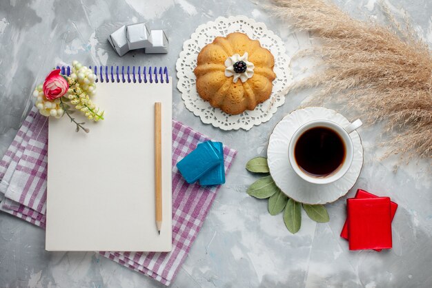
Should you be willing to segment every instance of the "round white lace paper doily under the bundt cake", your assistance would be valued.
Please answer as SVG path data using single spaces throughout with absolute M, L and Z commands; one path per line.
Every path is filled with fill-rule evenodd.
M 195 88 L 195 74 L 193 70 L 197 65 L 197 56 L 205 45 L 212 43 L 217 36 L 226 36 L 232 32 L 243 32 L 249 38 L 259 40 L 262 47 L 267 48 L 275 57 L 273 91 L 270 99 L 255 107 L 255 110 L 246 110 L 242 114 L 229 115 L 214 108 L 210 103 L 199 97 Z M 181 98 L 190 112 L 199 116 L 201 121 L 219 127 L 222 130 L 250 130 L 253 125 L 259 125 L 271 119 L 277 107 L 285 103 L 285 94 L 293 77 L 288 67 L 290 58 L 285 54 L 282 39 L 266 28 L 264 23 L 255 22 L 245 16 L 218 17 L 215 21 L 199 25 L 195 33 L 183 44 L 176 63 L 177 88 Z

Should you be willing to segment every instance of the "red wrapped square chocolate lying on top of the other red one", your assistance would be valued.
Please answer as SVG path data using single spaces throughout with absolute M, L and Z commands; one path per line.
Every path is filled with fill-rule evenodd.
M 389 197 L 346 200 L 350 250 L 391 249 L 390 202 Z

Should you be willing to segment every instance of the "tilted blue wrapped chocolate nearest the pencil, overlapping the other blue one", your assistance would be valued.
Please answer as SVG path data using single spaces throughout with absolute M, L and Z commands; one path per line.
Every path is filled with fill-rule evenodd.
M 221 156 L 210 141 L 207 141 L 199 144 L 193 152 L 181 159 L 177 163 L 177 168 L 187 183 L 195 183 L 223 161 L 224 156 Z

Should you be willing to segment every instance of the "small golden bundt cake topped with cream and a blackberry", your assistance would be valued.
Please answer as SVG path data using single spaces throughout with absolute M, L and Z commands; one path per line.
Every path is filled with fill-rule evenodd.
M 216 37 L 198 54 L 197 92 L 228 114 L 254 110 L 270 97 L 274 65 L 271 52 L 246 34 Z

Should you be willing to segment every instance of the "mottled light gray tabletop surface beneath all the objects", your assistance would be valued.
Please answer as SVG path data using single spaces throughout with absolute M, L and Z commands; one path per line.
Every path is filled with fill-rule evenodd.
M 375 0 L 337 1 L 355 17 L 383 19 Z M 432 3 L 393 0 L 397 15 L 411 15 L 414 27 L 432 44 Z M 175 74 L 182 43 L 197 25 L 218 16 L 244 14 L 264 21 L 293 54 L 308 46 L 250 1 L 0 1 L 0 155 L 10 145 L 30 94 L 59 61 L 88 65 L 167 65 Z M 170 40 L 165 55 L 130 52 L 117 56 L 106 37 L 120 25 L 146 21 L 164 28 Z M 295 70 L 300 64 L 295 64 Z M 296 74 L 294 76 L 297 76 Z M 255 176 L 244 165 L 265 154 L 268 135 L 306 96 L 290 94 L 268 123 L 249 132 L 222 132 L 188 112 L 174 90 L 174 118 L 239 151 L 173 287 L 431 287 L 431 163 L 410 163 L 393 172 L 395 161 L 378 160 L 380 127 L 364 127 L 365 165 L 355 187 L 389 195 L 399 204 L 391 251 L 348 251 L 340 229 L 345 198 L 327 205 L 331 221 L 315 224 L 303 214 L 302 229 L 291 235 L 282 216 L 270 216 L 266 201 L 245 191 Z M 136 110 L 137 107 L 125 107 Z M 344 113 L 343 109 L 339 110 Z M 355 119 L 361 115 L 348 115 Z M 79 207 L 77 207 L 79 209 Z M 48 253 L 45 234 L 29 223 L 0 213 L 0 287 L 161 287 L 155 280 L 94 253 Z

